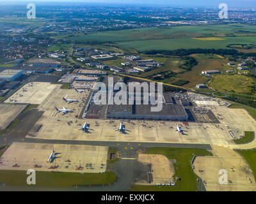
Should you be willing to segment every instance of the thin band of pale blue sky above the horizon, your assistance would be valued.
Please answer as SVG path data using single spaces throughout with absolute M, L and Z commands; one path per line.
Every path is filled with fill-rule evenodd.
M 20 2 L 24 0 L 0 0 L 0 2 Z M 230 7 L 236 8 L 256 8 L 256 0 L 27 0 L 33 3 L 41 2 L 84 2 L 84 3 L 132 3 L 132 4 L 166 4 L 173 6 L 216 6 L 220 3 L 226 3 Z

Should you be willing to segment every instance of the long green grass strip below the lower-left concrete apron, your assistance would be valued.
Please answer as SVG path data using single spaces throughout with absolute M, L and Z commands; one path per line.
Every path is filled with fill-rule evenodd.
M 28 186 L 26 171 L 0 170 L 0 183 L 8 186 Z M 79 185 L 111 184 L 116 175 L 106 173 L 54 173 L 36 171 L 36 185 L 40 187 L 72 187 Z

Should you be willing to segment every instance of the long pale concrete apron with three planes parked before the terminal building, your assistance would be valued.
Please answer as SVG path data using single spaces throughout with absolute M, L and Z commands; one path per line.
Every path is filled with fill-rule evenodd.
M 45 113 L 45 117 L 38 120 L 37 124 L 42 128 L 33 137 L 57 140 L 90 140 L 90 141 L 114 141 L 114 142 L 152 142 L 152 143 L 207 143 L 214 145 L 233 145 L 233 138 L 228 131 L 239 129 L 243 131 L 255 131 L 256 124 L 245 110 L 236 110 L 227 107 L 212 109 L 223 117 L 219 117 L 220 124 L 188 122 L 188 126 L 182 122 L 154 121 L 154 120 L 127 120 L 123 121 L 130 131 L 122 134 L 115 131 L 120 120 L 93 120 L 77 119 L 74 113 L 54 116 L 54 107 L 51 114 Z M 67 107 L 68 108 L 68 107 Z M 90 124 L 93 131 L 84 133 L 77 130 L 84 122 Z M 179 125 L 186 129 L 185 135 L 181 135 L 173 128 Z

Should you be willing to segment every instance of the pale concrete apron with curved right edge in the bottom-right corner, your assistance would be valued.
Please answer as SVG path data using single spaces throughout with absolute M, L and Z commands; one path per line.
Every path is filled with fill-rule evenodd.
M 196 157 L 195 173 L 207 191 L 256 191 L 252 169 L 244 158 L 232 149 L 213 148 L 214 156 Z M 227 170 L 227 184 L 221 184 L 220 170 Z

